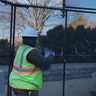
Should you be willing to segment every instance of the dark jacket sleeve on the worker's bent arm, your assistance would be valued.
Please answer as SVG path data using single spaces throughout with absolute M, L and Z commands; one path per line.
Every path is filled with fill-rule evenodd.
M 54 59 L 53 55 L 49 55 L 45 58 L 37 49 L 33 49 L 27 55 L 28 62 L 40 67 L 43 71 L 49 69 Z

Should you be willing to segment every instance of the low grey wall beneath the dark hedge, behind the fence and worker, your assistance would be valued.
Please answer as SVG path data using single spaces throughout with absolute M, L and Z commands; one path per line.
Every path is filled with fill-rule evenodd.
M 8 78 L 8 66 L 0 66 L 0 70 L 4 71 L 5 80 Z M 96 70 L 96 63 L 67 63 L 65 78 L 79 79 L 90 78 L 91 74 Z M 56 81 L 63 79 L 63 64 L 51 64 L 49 70 L 43 72 L 44 81 Z

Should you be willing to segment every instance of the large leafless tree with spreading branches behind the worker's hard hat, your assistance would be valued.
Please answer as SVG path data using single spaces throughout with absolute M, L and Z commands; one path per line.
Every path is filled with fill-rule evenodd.
M 51 6 L 51 7 L 62 7 L 63 0 L 7 0 L 14 3 L 22 3 L 37 6 Z M 24 2 L 25 1 L 25 2 Z M 66 0 L 66 5 L 71 3 L 70 0 Z M 10 20 L 10 6 L 7 8 L 4 4 L 0 4 L 0 14 L 2 18 L 0 21 L 9 23 Z M 3 10 L 2 10 L 3 9 Z M 17 36 L 26 25 L 34 27 L 37 33 L 42 34 L 44 27 L 56 26 L 58 22 L 62 21 L 61 11 L 40 9 L 40 8 L 17 8 L 16 12 L 16 32 Z M 4 14 L 4 16 L 3 16 Z M 60 24 L 60 23 L 59 23 Z M 9 24 L 7 24 L 9 27 Z

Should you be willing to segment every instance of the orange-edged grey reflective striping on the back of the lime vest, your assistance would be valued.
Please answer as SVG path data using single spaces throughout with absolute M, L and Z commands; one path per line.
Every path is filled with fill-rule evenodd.
M 23 53 L 25 52 L 25 50 L 27 50 L 29 47 L 27 46 L 21 55 L 21 59 L 20 59 L 20 65 L 18 66 L 17 64 L 14 64 L 13 66 L 13 71 L 17 72 L 17 73 L 21 73 L 21 74 L 31 74 L 31 73 L 35 73 L 35 72 L 40 72 L 40 68 L 36 67 L 36 66 L 31 66 L 31 67 L 23 67 Z

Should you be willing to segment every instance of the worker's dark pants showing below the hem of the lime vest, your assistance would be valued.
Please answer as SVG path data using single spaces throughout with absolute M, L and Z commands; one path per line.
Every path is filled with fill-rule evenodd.
M 38 91 L 13 89 L 16 96 L 39 96 Z

